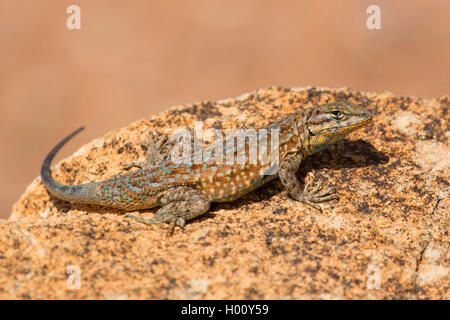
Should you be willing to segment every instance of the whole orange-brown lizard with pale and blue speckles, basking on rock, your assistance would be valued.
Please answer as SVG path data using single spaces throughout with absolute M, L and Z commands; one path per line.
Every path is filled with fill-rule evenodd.
M 84 129 L 81 127 L 50 151 L 41 167 L 41 179 L 47 191 L 58 199 L 119 208 L 128 212 L 127 217 L 148 225 L 169 223 L 167 235 L 175 226 L 184 227 L 186 221 L 206 213 L 211 202 L 233 201 L 277 177 L 294 200 L 321 210 L 319 203 L 338 199 L 335 187 L 319 180 L 314 186 L 306 183 L 302 188 L 296 176 L 301 162 L 335 145 L 371 120 L 369 111 L 351 101 L 343 101 L 303 108 L 264 126 L 268 130 L 279 130 L 279 162 L 277 170 L 269 173 L 267 166 L 259 163 L 171 163 L 168 153 L 162 151 L 167 148 L 167 137 L 155 143 L 150 134 L 149 141 L 142 144 L 147 148 L 146 161 L 122 164 L 126 169 L 138 167 L 140 170 L 99 182 L 60 184 L 51 176 L 51 162 L 56 153 Z M 248 141 L 245 143 L 249 151 Z M 150 219 L 130 213 L 154 207 L 160 208 Z

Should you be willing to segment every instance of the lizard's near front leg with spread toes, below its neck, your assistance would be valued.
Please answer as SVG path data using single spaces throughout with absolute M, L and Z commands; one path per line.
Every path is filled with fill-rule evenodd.
M 278 176 L 291 197 L 321 210 L 317 203 L 337 199 L 338 195 L 332 185 L 328 184 L 324 188 L 321 181 L 318 181 L 312 190 L 308 190 L 310 186 L 309 183 L 307 183 L 302 190 L 296 176 L 301 161 L 302 159 L 300 157 L 294 155 L 287 156 L 280 163 Z

